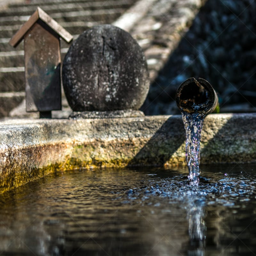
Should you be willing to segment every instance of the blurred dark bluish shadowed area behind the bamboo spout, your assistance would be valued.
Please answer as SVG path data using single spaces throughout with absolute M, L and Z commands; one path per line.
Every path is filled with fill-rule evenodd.
M 252 0 L 206 1 L 152 82 L 145 114 L 178 114 L 176 90 L 189 77 L 212 84 L 221 112 L 255 111 L 255 12 Z

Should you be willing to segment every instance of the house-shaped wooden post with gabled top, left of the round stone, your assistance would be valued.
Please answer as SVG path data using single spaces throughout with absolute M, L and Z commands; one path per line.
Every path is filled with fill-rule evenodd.
M 60 37 L 68 43 L 73 39 L 37 7 L 9 42 L 16 47 L 24 39 L 26 111 L 39 111 L 41 118 L 61 109 Z

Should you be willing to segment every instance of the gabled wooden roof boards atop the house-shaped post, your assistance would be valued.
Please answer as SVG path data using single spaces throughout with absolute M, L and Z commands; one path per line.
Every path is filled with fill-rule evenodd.
M 26 35 L 28 30 L 37 22 L 37 20 L 42 20 L 47 26 L 52 28 L 61 38 L 63 38 L 67 43 L 69 43 L 73 36 L 68 33 L 66 29 L 60 26 L 58 22 L 53 20 L 46 12 L 44 12 L 40 7 L 37 7 L 36 12 L 34 12 L 28 21 L 26 21 L 23 26 L 12 36 L 9 44 L 16 47 Z

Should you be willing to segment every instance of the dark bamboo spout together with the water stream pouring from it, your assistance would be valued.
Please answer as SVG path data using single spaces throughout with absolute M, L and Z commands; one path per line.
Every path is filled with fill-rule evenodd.
M 183 82 L 176 93 L 176 103 L 186 130 L 186 162 L 190 185 L 199 183 L 200 140 L 204 117 L 219 112 L 217 93 L 206 80 L 194 77 Z

